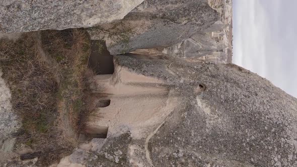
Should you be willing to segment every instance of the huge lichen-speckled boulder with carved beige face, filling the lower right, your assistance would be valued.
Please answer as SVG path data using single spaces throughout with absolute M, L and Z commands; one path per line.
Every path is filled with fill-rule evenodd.
M 273 86 L 268 80 L 233 64 L 191 61 L 152 52 L 145 55 L 144 51 L 142 54 L 115 56 L 114 63 L 116 68 L 122 69 L 122 73 L 115 72 L 109 81 L 102 82 L 104 79 L 101 78 L 103 84 L 97 87 L 97 90 L 106 90 L 104 98 L 109 98 L 111 103 L 91 114 L 92 118 L 98 116 L 95 119 L 97 125 L 110 126 L 111 133 L 106 139 L 93 139 L 90 142 L 92 148 L 84 153 L 89 158 L 85 158 L 87 160 L 83 160 L 82 164 L 297 165 L 297 99 Z M 121 80 L 118 75 L 133 75 L 136 79 L 127 82 L 125 77 Z M 137 78 L 150 79 L 143 83 L 137 81 Z M 124 97 L 116 93 L 116 90 L 109 89 L 132 85 L 135 90 Z M 142 90 L 138 87 L 142 87 Z M 152 88 L 157 88 L 156 92 L 145 91 Z M 111 90 L 110 94 L 108 90 Z M 94 91 L 96 93 L 96 89 Z M 164 93 L 166 96 L 158 102 L 147 98 L 158 98 Z M 112 122 L 120 120 L 124 114 L 137 114 L 133 113 L 133 107 L 126 108 L 123 103 L 118 103 L 119 99 L 138 106 L 139 113 L 145 111 L 147 115 L 154 115 L 162 110 L 166 114 L 164 117 L 158 116 L 161 120 L 151 124 L 145 120 L 137 126 L 129 122 L 113 124 L 105 119 Z M 166 110 L 170 99 L 176 99 L 175 105 Z M 147 100 L 159 110 L 145 110 L 147 104 L 143 102 Z M 105 112 L 108 108 L 116 107 L 120 110 L 109 110 L 108 114 Z M 133 120 L 137 122 L 137 116 Z M 90 119 L 89 127 L 95 124 L 96 121 Z M 135 130 L 143 131 L 136 133 Z

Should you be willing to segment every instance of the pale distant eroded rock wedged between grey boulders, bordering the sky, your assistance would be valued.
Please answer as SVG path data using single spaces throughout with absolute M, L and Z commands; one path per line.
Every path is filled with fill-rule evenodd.
M 215 63 L 232 62 L 232 1 L 208 0 L 208 4 L 219 13 L 219 21 L 200 34 L 164 48 L 163 53 Z

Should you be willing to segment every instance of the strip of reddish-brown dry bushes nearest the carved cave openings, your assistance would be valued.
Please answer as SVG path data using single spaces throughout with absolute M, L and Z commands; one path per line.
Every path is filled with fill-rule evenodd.
M 43 47 L 58 63 L 58 106 L 61 113 L 66 113 L 60 117 L 61 127 L 67 129 L 65 135 L 76 136 L 73 133 L 80 131 L 83 113 L 89 110 L 87 78 L 94 74 L 88 68 L 89 35 L 80 29 L 50 30 L 42 33 L 42 38 Z

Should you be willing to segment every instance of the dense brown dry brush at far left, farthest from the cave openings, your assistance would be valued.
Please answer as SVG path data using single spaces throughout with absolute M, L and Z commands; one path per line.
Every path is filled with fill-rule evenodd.
M 14 42 L 0 42 L 4 78 L 12 91 L 12 104 L 22 115 L 24 130 L 44 133 L 55 119 L 57 82 L 52 69 L 39 57 L 33 33 Z

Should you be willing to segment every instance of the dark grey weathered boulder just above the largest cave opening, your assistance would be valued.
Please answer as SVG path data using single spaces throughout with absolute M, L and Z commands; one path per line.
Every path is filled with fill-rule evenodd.
M 216 29 L 217 21 L 219 14 L 204 0 L 145 0 L 124 19 L 88 32 L 92 39 L 106 40 L 108 50 L 116 55 L 177 44 L 194 34 Z

